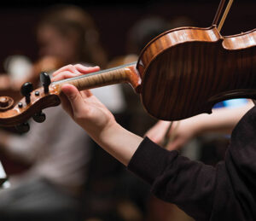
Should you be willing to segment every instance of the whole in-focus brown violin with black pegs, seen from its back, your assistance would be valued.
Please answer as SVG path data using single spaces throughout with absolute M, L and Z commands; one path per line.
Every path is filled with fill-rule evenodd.
M 215 24 L 220 8 L 210 27 L 180 27 L 160 34 L 137 62 L 52 83 L 41 73 L 43 87 L 33 90 L 32 84 L 24 84 L 24 97 L 15 106 L 10 97 L 0 98 L 0 125 L 19 125 L 32 116 L 44 121 L 42 109 L 60 104 L 61 84 L 66 83 L 79 90 L 131 84 L 146 111 L 164 120 L 211 113 L 216 102 L 227 99 L 256 99 L 256 29 L 223 37 Z

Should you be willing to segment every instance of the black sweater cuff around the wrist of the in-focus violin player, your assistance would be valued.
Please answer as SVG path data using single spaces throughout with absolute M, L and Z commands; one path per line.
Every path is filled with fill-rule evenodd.
M 166 164 L 172 163 L 176 157 L 176 150 L 168 151 L 145 137 L 131 157 L 127 168 L 152 184 L 154 179 L 165 170 Z

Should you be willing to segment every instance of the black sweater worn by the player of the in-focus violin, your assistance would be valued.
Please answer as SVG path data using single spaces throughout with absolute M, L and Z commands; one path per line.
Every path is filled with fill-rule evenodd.
M 195 220 L 256 220 L 256 108 L 232 132 L 225 159 L 216 167 L 160 148 L 147 137 L 128 165 L 164 201 Z

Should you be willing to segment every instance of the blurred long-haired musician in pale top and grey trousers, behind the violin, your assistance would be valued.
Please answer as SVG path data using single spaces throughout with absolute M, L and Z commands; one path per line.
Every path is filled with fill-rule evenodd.
M 78 7 L 55 6 L 46 11 L 38 23 L 37 36 L 43 59 L 103 67 L 107 61 L 93 20 Z M 44 65 L 40 65 L 37 70 L 41 72 Z M 123 105 L 118 90 L 113 86 L 95 93 L 118 112 Z M 48 108 L 45 113 L 45 122 L 32 121 L 26 135 L 0 131 L 2 153 L 31 165 L 27 172 L 10 177 L 11 188 L 0 192 L 1 220 L 79 219 L 91 158 L 90 137 L 60 107 Z

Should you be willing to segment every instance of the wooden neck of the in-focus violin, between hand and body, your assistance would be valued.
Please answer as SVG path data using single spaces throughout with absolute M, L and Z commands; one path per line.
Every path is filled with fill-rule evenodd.
M 100 72 L 81 75 L 76 78 L 56 81 L 53 84 L 59 86 L 61 86 L 61 84 L 73 84 L 79 90 L 88 90 L 111 84 L 128 83 L 138 92 L 141 79 L 137 73 L 136 64 L 136 62 L 133 62 Z

